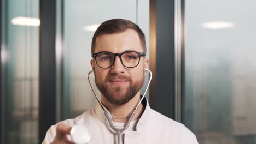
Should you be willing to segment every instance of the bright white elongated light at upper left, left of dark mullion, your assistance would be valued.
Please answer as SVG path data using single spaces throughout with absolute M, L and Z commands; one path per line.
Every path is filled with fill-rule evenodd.
M 11 20 L 11 23 L 18 26 L 40 26 L 40 20 L 32 17 L 15 17 Z

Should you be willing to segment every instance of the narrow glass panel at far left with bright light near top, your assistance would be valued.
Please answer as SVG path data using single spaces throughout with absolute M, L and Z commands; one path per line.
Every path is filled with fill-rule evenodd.
M 1 61 L 6 62 L 6 73 L 2 79 L 5 92 L 1 96 L 6 101 L 3 121 L 6 137 L 1 139 L 4 143 L 38 143 L 39 1 L 5 3 L 8 7 L 2 6 L 7 9 L 7 17 L 2 31 L 5 29 L 7 35 L 1 35 L 5 39 L 1 47 L 5 59 Z

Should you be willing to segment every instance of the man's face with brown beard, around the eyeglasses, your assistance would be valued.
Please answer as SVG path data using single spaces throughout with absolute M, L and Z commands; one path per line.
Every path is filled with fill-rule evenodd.
M 108 51 L 122 53 L 125 51 L 144 52 L 136 31 L 127 29 L 117 34 L 103 34 L 96 39 L 94 53 Z M 148 59 L 141 57 L 135 68 L 126 68 L 119 57 L 115 57 L 112 67 L 103 69 L 97 66 L 95 59 L 91 61 L 95 73 L 97 88 L 112 104 L 123 105 L 130 101 L 143 86 L 144 68 Z

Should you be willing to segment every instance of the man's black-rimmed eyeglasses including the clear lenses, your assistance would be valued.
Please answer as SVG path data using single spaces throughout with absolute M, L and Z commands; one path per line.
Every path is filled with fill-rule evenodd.
M 125 51 L 123 53 L 112 53 L 102 51 L 91 55 L 95 58 L 98 67 L 107 69 L 112 67 L 115 63 L 115 57 L 119 57 L 121 63 L 126 68 L 134 68 L 139 64 L 141 57 L 146 56 L 146 53 L 136 51 Z

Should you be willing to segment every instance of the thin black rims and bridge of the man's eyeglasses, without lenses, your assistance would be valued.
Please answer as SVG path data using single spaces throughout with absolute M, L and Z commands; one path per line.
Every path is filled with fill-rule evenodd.
M 112 63 L 109 67 L 107 67 L 107 68 L 100 67 L 100 65 L 98 65 L 98 63 L 97 63 L 97 58 L 96 58 L 97 55 L 100 54 L 100 53 L 103 53 L 103 52 L 111 53 L 112 55 L 114 55 L 114 61 L 113 61 L 113 63 Z M 137 52 L 137 51 L 124 51 L 124 52 L 122 52 L 122 53 L 112 53 L 112 52 L 109 52 L 109 51 L 101 51 L 101 52 L 94 53 L 94 54 L 92 54 L 91 56 L 92 56 L 92 58 L 95 58 L 95 61 L 96 61 L 96 64 L 98 65 L 98 67 L 100 67 L 100 68 L 102 68 L 102 69 L 108 69 L 108 68 L 110 68 L 110 67 L 112 67 L 112 66 L 114 65 L 114 63 L 115 63 L 115 57 L 117 57 L 117 56 L 119 57 L 121 63 L 124 65 L 121 56 L 122 56 L 125 52 L 136 52 L 136 53 L 138 53 L 138 56 L 139 56 L 138 64 L 139 64 L 139 62 L 141 61 L 141 57 L 146 56 L 146 53 L 144 53 L 144 52 Z M 124 65 L 124 67 L 126 67 L 126 68 L 135 68 L 135 67 L 138 66 L 138 64 L 135 65 L 134 67 L 126 67 L 125 65 Z

